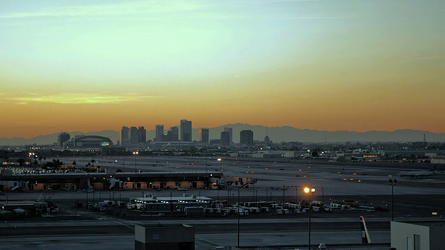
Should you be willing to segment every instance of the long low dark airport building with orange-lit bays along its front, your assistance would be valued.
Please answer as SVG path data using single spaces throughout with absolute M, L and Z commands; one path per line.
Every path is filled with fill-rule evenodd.
M 109 190 L 156 188 L 210 188 L 213 181 L 220 181 L 220 172 L 69 172 L 47 174 L 12 174 L 3 169 L 0 190 L 13 189 L 6 183 L 22 184 L 29 190 Z M 107 169 L 108 170 L 108 169 Z M 2 185 L 3 183 L 3 185 Z M 27 183 L 26 185 L 23 185 Z M 15 184 L 17 185 L 17 184 Z

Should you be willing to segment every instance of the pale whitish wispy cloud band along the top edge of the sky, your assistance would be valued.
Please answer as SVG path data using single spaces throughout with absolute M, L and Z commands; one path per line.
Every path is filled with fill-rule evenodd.
M 264 15 L 250 12 L 252 6 L 275 3 L 298 3 L 326 0 L 254 0 L 230 1 L 229 3 L 212 1 L 124 1 L 122 3 L 104 3 L 85 6 L 51 6 L 28 12 L 0 14 L 0 19 L 23 19 L 39 17 L 112 17 L 117 19 L 168 19 L 168 14 L 175 14 L 179 19 L 351 19 L 350 15 L 335 17 L 324 15 Z M 241 10 L 241 12 L 234 12 Z M 243 11 L 246 10 L 246 11 Z M 193 13 L 193 15 L 181 15 Z

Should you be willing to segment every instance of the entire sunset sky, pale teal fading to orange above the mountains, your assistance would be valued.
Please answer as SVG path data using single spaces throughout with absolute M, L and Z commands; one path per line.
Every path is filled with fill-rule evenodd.
M 0 0 L 0 138 L 245 123 L 445 133 L 444 0 Z

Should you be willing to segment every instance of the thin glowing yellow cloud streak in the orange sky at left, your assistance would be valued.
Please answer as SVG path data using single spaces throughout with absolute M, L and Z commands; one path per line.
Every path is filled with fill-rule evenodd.
M 145 101 L 147 99 L 158 98 L 147 94 L 55 94 L 38 95 L 30 94 L 29 97 L 13 97 L 9 101 L 17 101 L 17 105 L 26 105 L 29 103 L 60 103 L 60 104 L 104 104 L 104 103 L 125 103 Z

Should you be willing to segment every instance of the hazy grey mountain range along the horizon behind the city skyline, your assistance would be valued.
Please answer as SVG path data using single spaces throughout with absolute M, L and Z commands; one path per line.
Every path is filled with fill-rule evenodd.
M 180 126 L 177 126 L 180 128 Z M 254 140 L 262 141 L 267 135 L 273 142 L 421 142 L 426 135 L 427 142 L 445 142 L 445 133 L 431 133 L 402 129 L 397 131 L 316 131 L 310 129 L 292 128 L 290 126 L 268 127 L 249 124 L 226 124 L 216 128 L 209 128 L 209 137 L 219 139 L 224 128 L 232 128 L 233 141 L 239 142 L 239 133 L 242 130 L 252 130 Z M 165 131 L 166 132 L 166 131 Z M 83 133 L 79 131 L 68 132 L 73 138 L 75 135 L 101 135 L 110 138 L 113 143 L 120 140 L 120 131 L 97 131 Z M 35 138 L 0 138 L 0 145 L 29 145 L 54 144 L 59 133 L 39 135 Z M 147 140 L 153 140 L 155 131 L 147 131 Z M 198 140 L 198 129 L 193 128 L 193 140 Z

